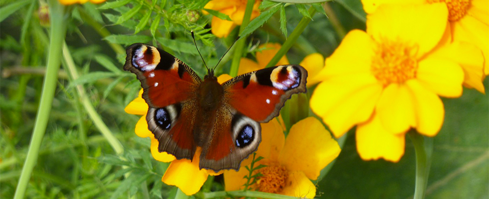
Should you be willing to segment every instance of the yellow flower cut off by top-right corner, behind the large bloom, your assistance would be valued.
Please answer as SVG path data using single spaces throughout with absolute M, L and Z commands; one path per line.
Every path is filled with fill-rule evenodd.
M 363 8 L 367 13 L 373 13 L 382 4 L 424 4 L 445 2 L 448 8 L 449 23 L 447 29 L 450 33 L 447 40 L 450 42 L 467 42 L 477 46 L 484 55 L 484 69 L 473 63 L 461 64 L 465 72 L 464 86 L 475 88 L 485 93 L 482 80 L 489 75 L 489 1 L 488 0 L 362 0 Z M 446 23 L 446 22 L 445 22 Z M 467 45 L 467 44 L 461 44 Z M 471 47 L 474 48 L 474 47 Z M 479 50 L 473 49 L 470 53 L 460 51 L 452 58 L 473 56 L 479 61 Z M 477 63 L 477 62 L 476 62 Z

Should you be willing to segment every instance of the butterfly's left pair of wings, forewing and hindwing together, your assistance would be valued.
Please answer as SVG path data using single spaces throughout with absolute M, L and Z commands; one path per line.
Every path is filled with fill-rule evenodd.
M 126 50 L 124 70 L 136 74 L 149 105 L 148 129 L 158 151 L 192 159 L 196 150 L 193 124 L 196 93 L 202 80 L 185 63 L 151 45 L 136 43 Z

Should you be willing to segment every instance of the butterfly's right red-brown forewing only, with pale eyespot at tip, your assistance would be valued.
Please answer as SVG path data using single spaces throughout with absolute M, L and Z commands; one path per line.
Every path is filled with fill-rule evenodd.
M 299 65 L 266 68 L 223 84 L 225 98 L 238 112 L 258 122 L 276 117 L 292 94 L 306 92 L 307 71 Z

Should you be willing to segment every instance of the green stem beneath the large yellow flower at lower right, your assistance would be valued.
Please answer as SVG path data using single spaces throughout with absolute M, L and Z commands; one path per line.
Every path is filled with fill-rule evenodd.
M 433 154 L 433 138 L 424 137 L 415 131 L 409 132 L 416 151 L 416 186 L 414 199 L 423 199 L 428 184 L 430 173 L 431 156 Z

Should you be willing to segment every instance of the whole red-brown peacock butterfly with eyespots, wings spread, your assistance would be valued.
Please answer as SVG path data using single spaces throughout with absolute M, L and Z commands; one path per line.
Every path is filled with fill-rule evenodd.
M 200 169 L 239 170 L 261 141 L 260 123 L 276 117 L 292 94 L 306 92 L 299 65 L 265 68 L 219 84 L 214 69 L 202 80 L 187 64 L 157 47 L 127 48 L 124 70 L 136 74 L 148 103 L 148 129 L 158 151 L 192 160 Z

